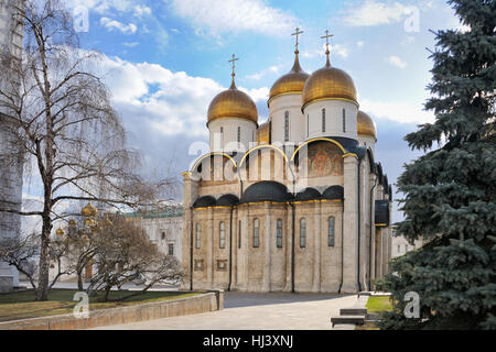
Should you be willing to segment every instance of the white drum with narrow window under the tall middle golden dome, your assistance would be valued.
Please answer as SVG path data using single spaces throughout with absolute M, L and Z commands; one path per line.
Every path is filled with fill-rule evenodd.
M 272 143 L 285 142 L 285 112 L 289 113 L 289 142 L 300 143 L 305 140 L 304 118 L 301 112 L 301 95 L 283 95 L 269 103 L 269 119 L 272 121 Z

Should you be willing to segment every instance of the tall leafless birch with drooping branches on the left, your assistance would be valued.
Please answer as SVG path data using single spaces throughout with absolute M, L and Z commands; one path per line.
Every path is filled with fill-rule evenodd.
M 25 165 L 33 165 L 32 182 L 42 187 L 43 201 L 34 211 L 7 206 L 0 211 L 41 218 L 36 300 L 46 300 L 50 234 L 54 221 L 67 220 L 58 210 L 63 204 L 134 207 L 152 199 L 155 187 L 134 172 L 139 154 L 126 148 L 109 92 L 87 68 L 96 55 L 78 50 L 69 13 L 60 1 L 28 0 L 19 15 L 25 25 L 24 53 L 21 61 L 9 53 L 1 57 L 0 108 L 12 127 L 12 157 L 25 155 Z

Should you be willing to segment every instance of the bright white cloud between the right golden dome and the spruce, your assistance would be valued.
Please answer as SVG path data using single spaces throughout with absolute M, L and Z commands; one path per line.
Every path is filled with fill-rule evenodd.
M 400 123 L 434 122 L 434 116 L 424 111 L 422 103 L 408 103 L 396 101 L 371 101 L 360 99 L 360 110 L 370 113 L 378 119 L 386 119 Z

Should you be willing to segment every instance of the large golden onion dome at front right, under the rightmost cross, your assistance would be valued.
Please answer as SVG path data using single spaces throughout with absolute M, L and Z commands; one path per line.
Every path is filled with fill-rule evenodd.
M 303 108 L 312 101 L 324 99 L 348 100 L 358 106 L 355 82 L 344 70 L 332 67 L 328 59 L 321 69 L 314 72 L 303 88 Z

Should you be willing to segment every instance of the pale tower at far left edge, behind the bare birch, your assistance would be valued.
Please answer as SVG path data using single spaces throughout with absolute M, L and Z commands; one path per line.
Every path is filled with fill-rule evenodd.
M 23 0 L 0 0 L 0 65 L 10 55 L 13 61 L 21 59 L 24 33 L 23 19 L 20 13 L 24 9 Z M 12 89 L 6 81 L 9 67 L 1 67 L 0 87 Z M 2 98 L 0 98 L 2 99 Z M 0 101 L 1 102 L 1 101 Z M 13 143 L 9 118 L 11 111 L 0 103 L 0 208 L 21 210 L 22 208 L 22 155 L 19 145 Z M 0 239 L 18 239 L 21 231 L 20 216 L 0 212 Z M 9 292 L 19 285 L 19 275 L 14 267 L 0 262 L 0 293 Z

